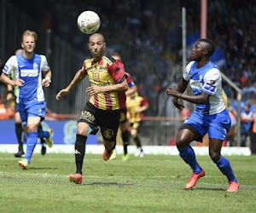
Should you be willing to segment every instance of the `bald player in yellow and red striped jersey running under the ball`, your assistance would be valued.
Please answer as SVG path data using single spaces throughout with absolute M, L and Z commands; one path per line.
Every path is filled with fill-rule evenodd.
M 81 184 L 83 182 L 83 161 L 85 142 L 88 135 L 96 134 L 101 128 L 105 150 L 102 158 L 107 161 L 116 144 L 119 129 L 120 106 L 125 104 L 125 91 L 128 89 L 124 65 L 105 53 L 105 39 L 100 33 L 89 37 L 88 47 L 93 56 L 84 60 L 80 69 L 66 89 L 56 95 L 59 100 L 80 83 L 87 75 L 90 87 L 86 89 L 90 100 L 87 101 L 78 121 L 78 131 L 75 141 L 76 174 L 68 176 L 69 181 Z

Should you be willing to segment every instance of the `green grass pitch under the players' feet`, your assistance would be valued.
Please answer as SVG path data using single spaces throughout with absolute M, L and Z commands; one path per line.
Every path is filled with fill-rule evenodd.
M 208 156 L 198 156 L 206 170 L 194 189 L 184 190 L 192 174 L 179 156 L 102 155 L 84 158 L 84 182 L 73 154 L 36 154 L 22 170 L 13 154 L 0 154 L 0 212 L 255 212 L 256 156 L 228 157 L 240 182 L 238 193 L 225 193 L 228 181 Z

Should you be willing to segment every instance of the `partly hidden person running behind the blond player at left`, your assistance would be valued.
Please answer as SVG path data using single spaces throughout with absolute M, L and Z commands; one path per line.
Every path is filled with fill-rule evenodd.
M 22 54 L 23 49 L 17 49 L 15 51 L 15 55 L 20 55 Z M 14 79 L 14 72 L 12 72 L 9 76 L 9 78 Z M 13 87 L 12 85 L 8 84 L 7 85 L 7 96 L 6 96 L 6 100 L 7 101 L 11 101 L 11 100 L 15 100 L 17 93 L 18 93 L 18 86 Z M 42 125 L 41 123 L 39 124 L 38 128 L 40 128 L 42 130 Z M 18 147 L 18 153 L 15 153 L 15 157 L 16 158 L 20 158 L 20 157 L 25 157 L 25 153 L 23 150 L 23 142 L 26 138 L 26 136 L 24 135 L 24 131 L 21 125 L 21 118 L 20 118 L 20 113 L 17 109 L 17 106 L 15 104 L 15 134 L 19 143 L 19 147 Z M 44 138 L 40 138 L 41 141 L 41 154 L 44 155 L 46 153 L 46 145 L 45 145 L 45 140 Z

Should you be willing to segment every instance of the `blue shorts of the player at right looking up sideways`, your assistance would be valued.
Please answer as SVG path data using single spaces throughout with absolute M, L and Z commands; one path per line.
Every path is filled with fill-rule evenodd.
M 225 109 L 214 115 L 203 114 L 200 112 L 192 112 L 191 116 L 184 121 L 183 124 L 189 124 L 195 128 L 201 135 L 201 141 L 204 135 L 209 135 L 209 138 L 215 138 L 224 141 L 229 134 L 231 120 L 230 114 Z

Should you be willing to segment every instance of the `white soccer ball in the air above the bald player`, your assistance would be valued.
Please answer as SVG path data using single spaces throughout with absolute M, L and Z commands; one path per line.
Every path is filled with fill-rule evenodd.
M 79 14 L 78 26 L 81 32 L 92 34 L 100 28 L 101 20 L 96 12 L 87 10 Z

